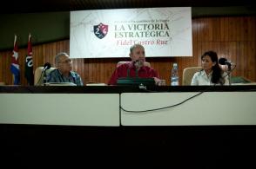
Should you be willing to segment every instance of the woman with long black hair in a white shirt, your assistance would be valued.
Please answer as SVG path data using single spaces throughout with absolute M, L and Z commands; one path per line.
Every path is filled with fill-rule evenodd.
M 191 85 L 229 85 L 228 75 L 219 67 L 216 52 L 205 52 L 201 64 L 202 69 L 193 75 Z

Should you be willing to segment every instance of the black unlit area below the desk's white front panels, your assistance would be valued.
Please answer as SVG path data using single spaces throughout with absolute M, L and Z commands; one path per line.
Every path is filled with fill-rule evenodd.
M 0 131 L 1 161 L 8 166 L 256 166 L 254 126 L 0 125 Z

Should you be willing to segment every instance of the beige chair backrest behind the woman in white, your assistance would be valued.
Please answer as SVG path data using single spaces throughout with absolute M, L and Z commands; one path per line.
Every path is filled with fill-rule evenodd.
M 183 75 L 182 75 L 182 85 L 190 86 L 193 75 L 201 69 L 202 69 L 202 67 L 184 68 Z

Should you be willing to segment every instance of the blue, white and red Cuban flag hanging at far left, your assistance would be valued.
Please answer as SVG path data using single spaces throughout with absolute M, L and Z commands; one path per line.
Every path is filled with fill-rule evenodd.
M 18 65 L 17 36 L 14 36 L 13 55 L 11 56 L 10 71 L 14 75 L 14 85 L 20 83 L 20 69 Z

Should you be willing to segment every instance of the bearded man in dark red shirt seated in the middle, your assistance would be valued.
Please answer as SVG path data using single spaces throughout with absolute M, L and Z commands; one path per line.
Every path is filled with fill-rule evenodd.
M 120 77 L 141 77 L 141 78 L 154 78 L 156 84 L 158 85 L 158 73 L 145 66 L 145 49 L 140 44 L 134 44 L 130 48 L 131 62 L 122 64 L 116 68 L 114 73 L 111 75 L 111 79 L 108 82 L 109 85 L 116 85 L 117 80 Z

